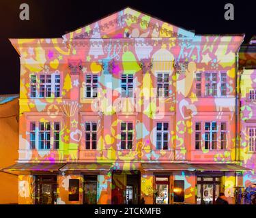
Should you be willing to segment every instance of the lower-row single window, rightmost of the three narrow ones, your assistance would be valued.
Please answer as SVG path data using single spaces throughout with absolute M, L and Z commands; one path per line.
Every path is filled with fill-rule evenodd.
M 168 150 L 169 123 L 156 123 L 156 149 Z

